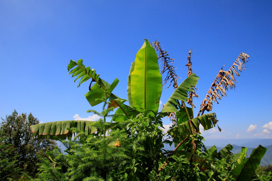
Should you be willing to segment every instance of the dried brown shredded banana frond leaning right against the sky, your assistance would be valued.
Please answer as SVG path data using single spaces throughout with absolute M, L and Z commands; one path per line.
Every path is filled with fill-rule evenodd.
M 233 63 L 228 71 L 221 69 L 216 76 L 215 81 L 212 83 L 211 88 L 206 95 L 206 98 L 200 105 L 198 116 L 205 111 L 211 111 L 213 108 L 213 102 L 218 103 L 218 99 L 227 96 L 226 91 L 235 87 L 235 75 L 239 76 L 239 72 L 246 69 L 245 63 L 248 61 L 249 55 L 241 53 L 236 61 Z

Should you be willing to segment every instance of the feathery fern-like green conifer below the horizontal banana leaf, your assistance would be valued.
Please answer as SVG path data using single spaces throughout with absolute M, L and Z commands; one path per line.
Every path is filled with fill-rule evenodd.
M 120 125 L 105 122 L 111 111 L 109 108 L 97 113 L 104 118 L 92 123 L 91 126 L 97 129 L 95 134 L 71 130 L 78 135 L 75 140 L 63 141 L 66 153 L 59 149 L 47 152 L 48 158 L 39 164 L 42 172 L 37 180 L 110 179 L 126 158 L 123 148 L 114 146 L 117 141 L 125 140 L 125 131 L 118 129 Z

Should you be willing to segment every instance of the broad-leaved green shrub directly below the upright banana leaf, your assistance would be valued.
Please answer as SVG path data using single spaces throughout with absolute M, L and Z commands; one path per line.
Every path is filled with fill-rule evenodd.
M 143 112 L 124 122 L 127 139 L 124 140 L 126 162 L 119 169 L 120 180 L 150 179 L 158 171 L 163 152 L 163 131 L 160 117 Z

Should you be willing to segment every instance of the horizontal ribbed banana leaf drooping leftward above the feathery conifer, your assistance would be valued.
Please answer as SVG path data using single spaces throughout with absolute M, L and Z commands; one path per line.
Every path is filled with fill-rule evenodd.
M 50 138 L 54 140 L 64 140 L 71 137 L 68 129 L 77 128 L 79 131 L 85 131 L 87 135 L 97 131 L 96 127 L 89 126 L 92 121 L 55 121 L 49 123 L 41 123 L 30 126 L 32 133 L 38 138 Z

